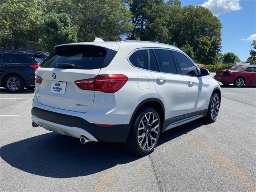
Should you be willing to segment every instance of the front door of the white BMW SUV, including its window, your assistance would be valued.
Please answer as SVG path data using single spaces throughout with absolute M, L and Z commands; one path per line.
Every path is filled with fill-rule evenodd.
M 185 54 L 172 51 L 182 77 L 186 79 L 188 100 L 186 114 L 200 112 L 208 108 L 208 83 L 204 76 L 198 76 L 199 70 Z

